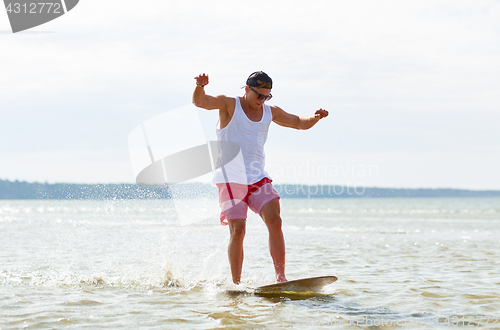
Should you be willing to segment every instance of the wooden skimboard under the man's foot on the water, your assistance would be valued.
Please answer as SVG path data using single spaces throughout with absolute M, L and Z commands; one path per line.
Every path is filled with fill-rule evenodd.
M 321 289 L 337 280 L 335 276 L 302 278 L 283 283 L 260 286 L 255 294 L 263 297 L 303 297 L 321 295 Z

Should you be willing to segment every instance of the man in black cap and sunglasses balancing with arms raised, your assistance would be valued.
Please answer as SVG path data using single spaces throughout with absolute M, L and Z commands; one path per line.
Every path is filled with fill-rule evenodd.
M 217 139 L 220 144 L 236 144 L 241 154 L 229 162 L 219 160 L 214 172 L 214 183 L 219 188 L 221 223 L 229 225 L 228 256 L 233 282 L 240 283 L 248 207 L 261 216 L 268 228 L 276 280 L 285 282 L 285 240 L 281 230 L 279 195 L 264 170 L 264 143 L 271 121 L 285 127 L 309 129 L 328 116 L 328 111 L 319 109 L 313 116 L 299 117 L 265 104 L 272 97 L 273 82 L 262 71 L 248 77 L 245 94 L 236 98 L 205 94 L 206 74 L 194 79 L 193 103 L 203 109 L 219 110 Z

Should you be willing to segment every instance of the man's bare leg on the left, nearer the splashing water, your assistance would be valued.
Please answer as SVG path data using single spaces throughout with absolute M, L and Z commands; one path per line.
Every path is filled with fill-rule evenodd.
M 245 238 L 246 220 L 228 220 L 229 246 L 227 254 L 234 284 L 240 284 L 241 269 L 243 267 L 243 239 Z

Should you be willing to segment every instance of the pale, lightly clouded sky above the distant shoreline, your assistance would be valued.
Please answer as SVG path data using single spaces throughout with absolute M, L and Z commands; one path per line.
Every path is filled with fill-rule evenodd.
M 263 70 L 269 104 L 330 113 L 271 126 L 275 183 L 498 190 L 499 17 L 497 0 L 82 0 L 13 34 L 2 9 L 0 179 L 134 182 L 136 127 L 189 105 L 200 73 L 241 96 Z

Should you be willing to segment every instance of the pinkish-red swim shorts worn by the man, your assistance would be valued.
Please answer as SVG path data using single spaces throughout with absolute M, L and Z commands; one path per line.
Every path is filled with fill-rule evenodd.
M 264 178 L 251 185 L 240 183 L 217 183 L 219 188 L 220 223 L 227 225 L 227 219 L 247 218 L 248 208 L 257 214 L 266 203 L 280 198 L 271 184 L 272 180 Z

